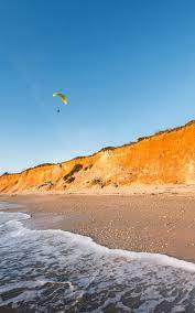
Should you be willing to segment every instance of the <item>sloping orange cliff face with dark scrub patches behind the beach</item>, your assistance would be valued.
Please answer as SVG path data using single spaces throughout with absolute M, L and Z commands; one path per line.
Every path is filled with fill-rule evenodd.
M 195 121 L 138 142 L 0 176 L 1 193 L 195 184 Z

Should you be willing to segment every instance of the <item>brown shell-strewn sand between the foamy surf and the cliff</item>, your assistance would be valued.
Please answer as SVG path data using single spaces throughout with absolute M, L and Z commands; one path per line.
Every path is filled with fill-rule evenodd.
M 0 195 L 32 215 L 28 227 L 90 236 L 109 248 L 195 262 L 195 193 Z M 14 209 L 11 209 L 14 211 Z

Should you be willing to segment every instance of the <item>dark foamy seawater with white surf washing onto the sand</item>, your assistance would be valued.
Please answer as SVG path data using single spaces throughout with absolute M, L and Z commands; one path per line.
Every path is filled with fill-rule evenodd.
M 195 263 L 29 229 L 29 214 L 0 208 L 0 312 L 195 312 Z

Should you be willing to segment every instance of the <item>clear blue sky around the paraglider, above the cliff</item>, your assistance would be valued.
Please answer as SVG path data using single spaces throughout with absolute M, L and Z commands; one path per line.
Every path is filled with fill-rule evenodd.
M 195 119 L 194 0 L 0 0 L 0 172 Z

